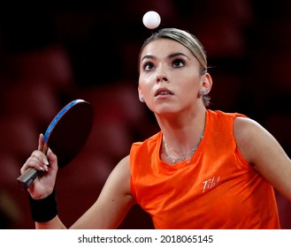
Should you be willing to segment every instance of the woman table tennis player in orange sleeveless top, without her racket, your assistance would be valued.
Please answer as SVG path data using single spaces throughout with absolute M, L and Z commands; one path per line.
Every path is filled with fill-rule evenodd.
M 160 131 L 132 145 L 71 228 L 118 228 L 134 204 L 155 228 L 280 228 L 273 188 L 291 199 L 291 161 L 248 116 L 206 108 L 207 69 L 188 32 L 164 28 L 144 42 L 138 94 Z M 21 168 L 45 170 L 28 189 L 35 227 L 66 228 L 57 216 L 57 157 L 47 157 L 36 150 Z

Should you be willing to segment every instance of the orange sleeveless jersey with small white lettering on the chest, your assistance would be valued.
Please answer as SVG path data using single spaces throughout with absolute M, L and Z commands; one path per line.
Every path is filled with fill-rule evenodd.
M 162 132 L 133 144 L 132 194 L 155 228 L 280 228 L 272 185 L 235 144 L 236 116 L 207 110 L 204 138 L 189 163 L 160 160 Z

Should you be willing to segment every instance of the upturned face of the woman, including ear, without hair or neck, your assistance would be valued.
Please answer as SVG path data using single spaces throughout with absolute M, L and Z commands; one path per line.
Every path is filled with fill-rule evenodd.
M 199 91 L 211 89 L 211 77 L 201 75 L 191 51 L 177 41 L 151 41 L 142 50 L 139 96 L 156 114 L 172 114 L 203 107 Z

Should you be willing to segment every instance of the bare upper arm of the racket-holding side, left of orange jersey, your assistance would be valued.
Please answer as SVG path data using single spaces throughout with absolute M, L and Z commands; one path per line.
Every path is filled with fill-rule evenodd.
M 126 156 L 112 170 L 95 204 L 73 224 L 72 228 L 117 228 L 133 205 L 129 157 Z

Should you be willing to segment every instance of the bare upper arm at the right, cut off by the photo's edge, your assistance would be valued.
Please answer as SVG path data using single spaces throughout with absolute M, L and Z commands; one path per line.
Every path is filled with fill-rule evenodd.
M 272 134 L 254 120 L 237 117 L 234 138 L 246 161 L 291 200 L 291 161 Z

